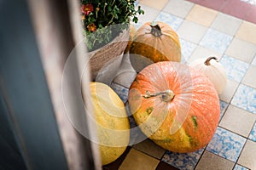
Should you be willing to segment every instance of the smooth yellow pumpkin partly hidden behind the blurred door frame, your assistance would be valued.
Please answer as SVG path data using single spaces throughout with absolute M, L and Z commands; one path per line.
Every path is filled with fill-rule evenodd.
M 130 139 L 130 124 L 125 105 L 112 88 L 102 82 L 91 82 L 90 94 L 102 165 L 106 165 L 125 151 Z

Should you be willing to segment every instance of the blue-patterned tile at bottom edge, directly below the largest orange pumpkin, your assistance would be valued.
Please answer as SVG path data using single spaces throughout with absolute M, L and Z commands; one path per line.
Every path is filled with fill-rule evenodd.
M 190 153 L 174 153 L 172 151 L 166 151 L 166 154 L 162 158 L 162 161 L 177 167 L 181 170 L 192 170 L 195 168 L 196 163 L 201 158 L 204 149 L 197 150 Z

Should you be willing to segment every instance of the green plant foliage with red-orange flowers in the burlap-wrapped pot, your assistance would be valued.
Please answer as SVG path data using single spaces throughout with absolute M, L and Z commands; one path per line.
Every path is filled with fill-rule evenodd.
M 82 22 L 89 51 L 111 42 L 131 21 L 137 23 L 137 14 L 144 11 L 140 6 L 136 8 L 135 3 L 136 0 L 82 0 Z

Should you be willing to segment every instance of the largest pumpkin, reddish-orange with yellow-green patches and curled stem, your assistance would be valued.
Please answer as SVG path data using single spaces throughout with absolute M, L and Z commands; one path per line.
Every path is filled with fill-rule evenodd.
M 218 127 L 217 91 L 188 65 L 172 61 L 148 65 L 132 82 L 128 100 L 143 133 L 166 150 L 199 150 Z

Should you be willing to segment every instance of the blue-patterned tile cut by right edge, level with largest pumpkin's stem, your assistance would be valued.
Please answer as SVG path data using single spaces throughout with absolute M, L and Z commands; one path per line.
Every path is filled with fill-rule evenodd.
M 256 114 L 256 89 L 240 84 L 231 104 Z

